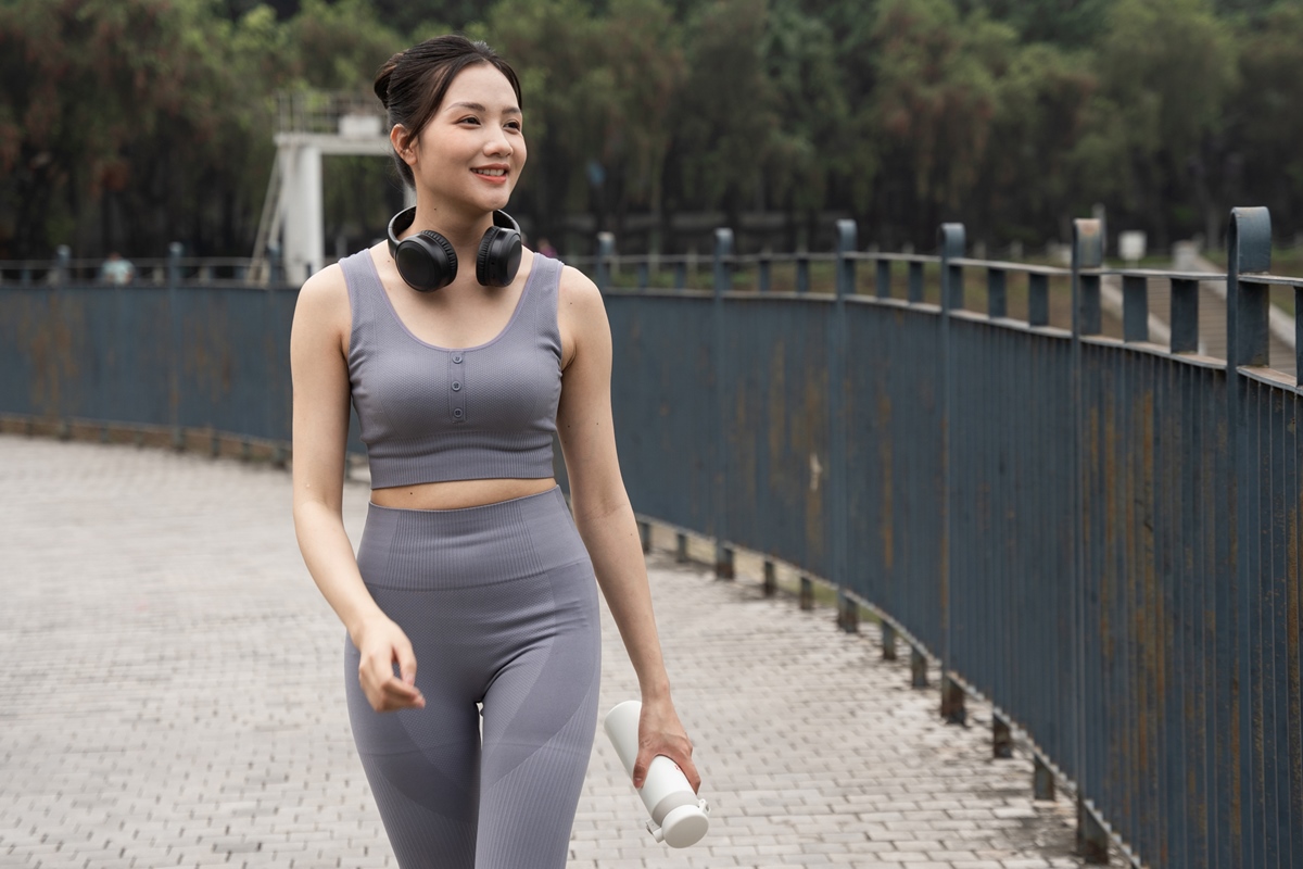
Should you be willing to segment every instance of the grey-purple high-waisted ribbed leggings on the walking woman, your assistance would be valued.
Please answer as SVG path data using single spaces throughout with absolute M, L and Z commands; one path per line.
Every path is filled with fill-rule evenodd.
M 601 629 L 560 490 L 465 509 L 371 504 L 357 562 L 412 641 L 426 702 L 374 711 L 345 641 L 353 739 L 399 865 L 562 869 L 597 730 Z

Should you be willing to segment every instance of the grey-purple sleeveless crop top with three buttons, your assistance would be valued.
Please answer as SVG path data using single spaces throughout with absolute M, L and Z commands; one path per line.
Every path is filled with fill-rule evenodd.
M 408 331 L 369 250 L 339 264 L 353 311 L 348 378 L 373 489 L 552 476 L 560 262 L 536 255 L 507 327 L 460 349 Z

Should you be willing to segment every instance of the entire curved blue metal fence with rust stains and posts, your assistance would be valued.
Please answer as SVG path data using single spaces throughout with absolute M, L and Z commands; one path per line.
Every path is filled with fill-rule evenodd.
M 1016 726 L 1040 793 L 1075 783 L 1087 855 L 1111 834 L 1152 866 L 1303 864 L 1300 390 L 1265 367 L 1267 289 L 1303 279 L 1267 274 L 1265 210 L 1233 212 L 1229 360 L 1197 354 L 1208 275 L 1104 270 L 1095 221 L 1071 268 L 967 259 L 956 224 L 938 257 L 855 233 L 831 257 L 735 257 L 721 229 L 710 292 L 653 289 L 645 259 L 622 266 L 646 287 L 614 289 L 603 240 L 636 509 L 717 538 L 722 575 L 747 547 L 826 578 L 847 628 L 873 606 L 916 679 L 939 661 L 942 714 L 985 696 L 997 753 Z M 835 292 L 809 292 L 812 262 Z M 1169 347 L 1148 341 L 1154 279 Z M 284 444 L 293 292 L 180 284 L 0 285 L 0 412 Z

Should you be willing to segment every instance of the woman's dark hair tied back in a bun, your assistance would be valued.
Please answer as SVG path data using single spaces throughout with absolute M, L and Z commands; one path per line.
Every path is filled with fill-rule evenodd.
M 520 108 L 525 107 L 520 98 L 520 79 L 516 78 L 516 70 L 499 57 L 498 52 L 486 43 L 470 42 L 460 34 L 448 34 L 400 51 L 384 61 L 375 73 L 375 95 L 388 109 L 390 129 L 401 124 L 416 139 L 439 111 L 439 104 L 448 93 L 448 85 L 457 73 L 472 64 L 490 64 L 506 76 L 511 89 L 516 91 L 516 104 Z M 412 167 L 399 156 L 397 151 L 394 152 L 394 160 L 403 180 L 409 186 L 416 186 Z

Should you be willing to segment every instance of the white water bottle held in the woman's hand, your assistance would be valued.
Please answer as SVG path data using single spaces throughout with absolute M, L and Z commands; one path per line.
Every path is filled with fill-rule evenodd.
M 627 700 L 606 714 L 602 726 L 620 756 L 624 771 L 633 776 L 633 761 L 638 756 L 638 717 L 642 704 Z M 698 800 L 679 765 L 663 754 L 652 758 L 646 780 L 638 791 L 642 805 L 648 808 L 652 819 L 648 833 L 657 842 L 665 842 L 671 848 L 687 848 L 701 840 L 710 827 L 710 806 Z

